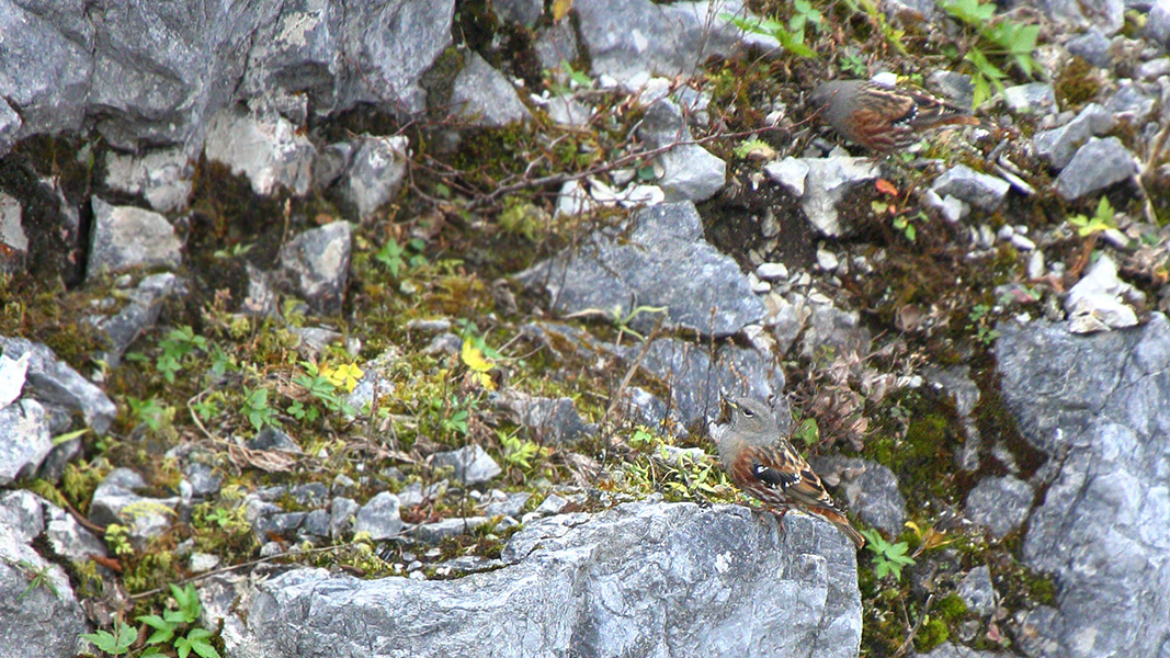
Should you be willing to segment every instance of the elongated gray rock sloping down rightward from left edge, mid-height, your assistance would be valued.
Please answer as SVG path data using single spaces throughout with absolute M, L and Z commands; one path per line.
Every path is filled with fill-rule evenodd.
M 53 350 L 41 343 L 0 336 L 0 351 L 8 358 L 20 358 L 30 352 L 25 395 L 46 405 L 46 409 L 54 405 L 80 411 L 85 423 L 99 434 L 104 434 L 117 418 L 118 407 L 101 389 L 58 361 Z

